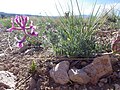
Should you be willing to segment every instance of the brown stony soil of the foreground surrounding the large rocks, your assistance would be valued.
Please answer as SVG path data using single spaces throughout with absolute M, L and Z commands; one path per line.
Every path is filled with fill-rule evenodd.
M 8 32 L 0 32 L 0 71 L 9 71 L 17 77 L 16 90 L 120 90 L 120 56 L 110 55 L 113 72 L 100 78 L 97 84 L 80 85 L 70 81 L 61 85 L 55 83 L 49 71 L 63 61 L 62 59 L 57 60 L 50 51 L 41 49 L 21 50 L 15 47 L 14 38 L 11 36 L 14 37 Z M 32 60 L 35 60 L 37 64 L 37 71 L 34 74 L 29 72 Z M 78 69 L 93 61 L 93 59 L 64 60 L 69 61 L 70 68 Z M 5 87 L 3 90 L 6 90 Z

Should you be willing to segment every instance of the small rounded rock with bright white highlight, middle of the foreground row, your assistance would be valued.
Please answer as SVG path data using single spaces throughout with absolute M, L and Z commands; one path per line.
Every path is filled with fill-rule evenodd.
M 90 81 L 90 77 L 82 69 L 71 69 L 68 74 L 70 80 L 79 84 L 87 84 Z

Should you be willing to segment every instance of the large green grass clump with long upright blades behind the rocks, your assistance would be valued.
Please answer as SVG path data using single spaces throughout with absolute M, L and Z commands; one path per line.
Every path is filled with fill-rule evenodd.
M 103 52 L 104 46 L 97 42 L 96 32 L 104 24 L 105 18 L 99 16 L 100 7 L 94 12 L 96 3 L 88 18 L 81 14 L 77 0 L 76 5 L 79 15 L 75 16 L 72 9 L 70 16 L 61 16 L 59 25 L 46 31 L 47 39 L 58 56 L 93 57 Z

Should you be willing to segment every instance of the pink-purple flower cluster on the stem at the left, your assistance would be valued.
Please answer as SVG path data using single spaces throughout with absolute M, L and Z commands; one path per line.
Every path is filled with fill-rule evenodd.
M 33 25 L 33 21 L 30 21 L 30 25 L 27 26 L 29 21 L 29 17 L 27 16 L 15 16 L 15 18 L 11 18 L 12 27 L 7 29 L 7 31 L 12 32 L 13 30 L 22 30 L 24 36 L 21 40 L 17 37 L 17 46 L 23 47 L 23 42 L 25 42 L 27 36 L 38 36 L 38 33 L 35 32 L 36 27 Z M 18 26 L 16 27 L 15 24 Z

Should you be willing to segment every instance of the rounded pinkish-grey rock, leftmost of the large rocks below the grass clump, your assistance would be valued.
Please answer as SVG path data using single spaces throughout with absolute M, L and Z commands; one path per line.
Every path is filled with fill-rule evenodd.
M 66 84 L 69 82 L 68 69 L 69 62 L 62 61 L 50 70 L 50 77 L 52 77 L 56 83 Z

